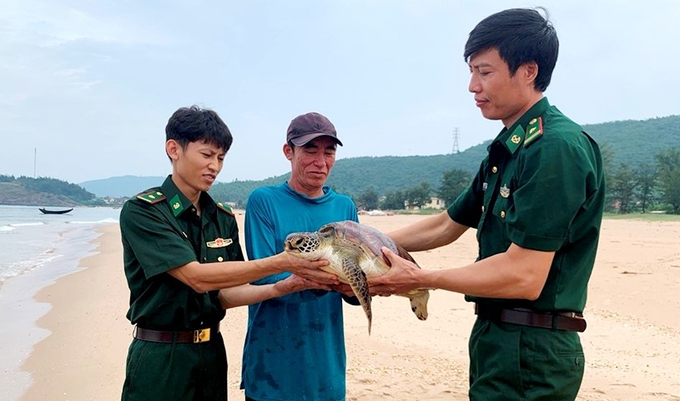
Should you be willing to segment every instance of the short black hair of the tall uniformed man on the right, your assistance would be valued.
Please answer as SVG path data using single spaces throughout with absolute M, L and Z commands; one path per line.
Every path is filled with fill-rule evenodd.
M 557 32 L 545 8 L 513 8 L 490 15 L 477 24 L 465 43 L 463 58 L 469 63 L 476 53 L 497 49 L 508 64 L 510 75 L 523 64 L 536 62 L 538 76 L 534 87 L 545 92 L 557 63 L 559 47 Z

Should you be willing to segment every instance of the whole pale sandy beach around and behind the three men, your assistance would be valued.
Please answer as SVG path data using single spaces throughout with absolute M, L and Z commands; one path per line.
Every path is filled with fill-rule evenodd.
M 243 228 L 243 212 L 238 212 Z M 422 218 L 361 216 L 382 231 Z M 117 400 L 132 326 L 125 318 L 128 290 L 116 225 L 101 229 L 97 254 L 84 269 L 42 289 L 52 309 L 37 325 L 51 335 L 23 368 L 33 384 L 24 401 Z M 474 231 L 456 244 L 413 256 L 423 268 L 470 263 Z M 579 400 L 680 400 L 680 222 L 605 220 L 590 281 L 581 339 L 586 375 Z M 378 297 L 373 331 L 360 308 L 345 308 L 348 400 L 466 400 L 467 339 L 472 306 L 460 294 L 434 291 L 427 321 L 408 300 Z M 240 361 L 246 308 L 222 322 L 229 357 L 231 400 L 242 400 Z

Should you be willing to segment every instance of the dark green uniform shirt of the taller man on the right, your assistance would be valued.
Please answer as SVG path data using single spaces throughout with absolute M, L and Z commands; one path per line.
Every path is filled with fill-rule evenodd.
M 511 243 L 556 253 L 537 300 L 466 299 L 504 308 L 582 312 L 604 205 L 597 144 L 543 98 L 504 128 L 488 151 L 449 216 L 477 228 L 479 259 L 505 252 Z

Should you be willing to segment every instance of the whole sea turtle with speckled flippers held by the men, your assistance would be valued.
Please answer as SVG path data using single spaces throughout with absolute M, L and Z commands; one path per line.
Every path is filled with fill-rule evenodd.
M 323 269 L 336 274 L 340 281 L 352 287 L 368 318 L 369 334 L 373 314 L 366 277 L 380 276 L 390 269 L 389 261 L 380 251 L 383 246 L 415 263 L 411 255 L 387 235 L 350 220 L 326 224 L 316 232 L 289 234 L 284 243 L 285 251 L 291 254 L 309 260 L 330 261 Z M 427 300 L 430 298 L 427 289 L 397 295 L 409 298 L 411 310 L 418 319 L 427 319 Z

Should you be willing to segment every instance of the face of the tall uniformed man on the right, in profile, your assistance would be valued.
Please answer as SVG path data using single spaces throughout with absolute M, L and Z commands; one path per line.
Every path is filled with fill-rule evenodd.
M 475 104 L 489 120 L 501 120 L 509 127 L 519 119 L 528 107 L 529 96 L 534 93 L 533 79 L 523 65 L 513 76 L 498 50 L 481 51 L 470 58 L 470 85 L 468 90 L 475 96 Z

